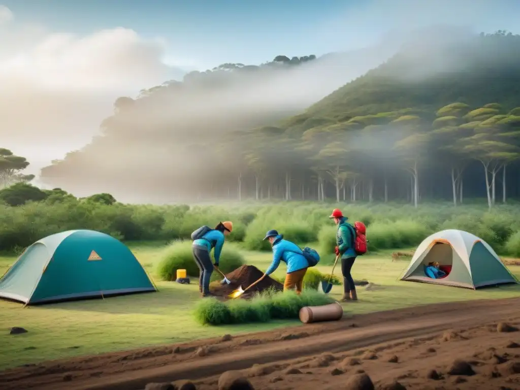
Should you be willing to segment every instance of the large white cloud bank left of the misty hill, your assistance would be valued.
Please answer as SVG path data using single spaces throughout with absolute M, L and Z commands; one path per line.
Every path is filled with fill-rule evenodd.
M 11 19 L 0 6 L 0 146 L 26 153 L 39 167 L 88 143 L 117 97 L 184 73 L 165 63 L 160 37 L 122 27 L 84 36 L 54 33 L 5 23 Z

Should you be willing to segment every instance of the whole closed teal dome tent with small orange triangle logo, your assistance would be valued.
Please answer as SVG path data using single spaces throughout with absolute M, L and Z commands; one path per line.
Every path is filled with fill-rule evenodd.
M 0 297 L 25 304 L 156 291 L 131 250 L 93 230 L 69 230 L 29 246 L 0 279 Z

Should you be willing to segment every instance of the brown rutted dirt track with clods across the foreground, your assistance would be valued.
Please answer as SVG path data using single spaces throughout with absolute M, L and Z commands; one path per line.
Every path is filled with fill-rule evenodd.
M 210 390 L 222 372 L 243 370 L 257 390 L 337 390 L 364 370 L 373 382 L 398 380 L 405 388 L 520 389 L 520 348 L 506 348 L 520 344 L 520 332 L 496 330 L 499 321 L 520 324 L 518 307 L 520 298 L 428 305 L 231 340 L 53 361 L 0 372 L 0 388 L 139 390 L 150 382 L 189 379 Z M 447 330 L 457 333 L 443 335 Z M 389 362 L 394 355 L 398 361 Z M 354 356 L 359 364 L 351 366 Z M 476 375 L 448 375 L 455 358 L 469 361 Z M 427 379 L 430 369 L 444 377 Z

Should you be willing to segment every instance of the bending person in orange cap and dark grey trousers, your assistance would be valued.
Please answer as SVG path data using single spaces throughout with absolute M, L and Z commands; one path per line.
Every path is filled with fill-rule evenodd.
M 193 241 L 193 258 L 200 270 L 199 291 L 203 297 L 212 296 L 210 292 L 210 279 L 213 269 L 218 269 L 220 252 L 224 245 L 225 236 L 233 230 L 233 223 L 226 221 L 220 222 L 215 229 L 205 233 L 202 238 Z M 210 252 L 214 249 L 215 264 L 212 264 Z

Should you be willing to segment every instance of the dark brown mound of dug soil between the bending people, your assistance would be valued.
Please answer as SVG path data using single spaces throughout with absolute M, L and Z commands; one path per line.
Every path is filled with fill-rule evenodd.
M 210 285 L 210 290 L 215 295 L 227 297 L 240 286 L 242 286 L 242 289 L 249 287 L 260 279 L 262 275 L 264 275 L 264 272 L 256 268 L 254 265 L 243 265 L 226 275 L 226 278 L 231 281 L 231 284 L 220 284 L 220 282 L 214 282 Z M 267 276 L 246 293 L 242 294 L 241 298 L 250 298 L 255 292 L 264 291 L 270 288 L 281 291 L 283 290 L 283 285 Z

